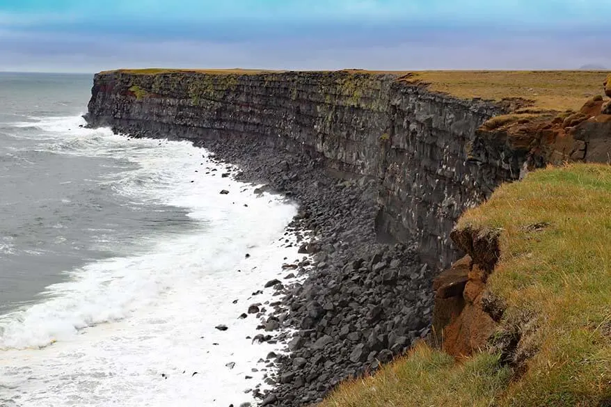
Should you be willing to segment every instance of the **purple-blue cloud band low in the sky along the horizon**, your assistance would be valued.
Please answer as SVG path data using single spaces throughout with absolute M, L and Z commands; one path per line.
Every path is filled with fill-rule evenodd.
M 113 40 L 47 33 L 0 42 L 0 69 L 97 72 L 117 67 L 259 67 L 268 69 L 373 70 L 576 69 L 587 63 L 611 67 L 604 37 L 573 32 L 553 35 L 489 35 L 455 31 L 379 33 L 375 41 L 328 35 L 292 40 L 237 42 Z

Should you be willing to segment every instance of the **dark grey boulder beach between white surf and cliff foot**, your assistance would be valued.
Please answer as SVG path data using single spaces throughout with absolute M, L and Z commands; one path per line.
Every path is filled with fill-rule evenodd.
M 253 390 L 261 406 L 322 401 L 340 381 L 374 371 L 428 335 L 434 273 L 420 263 L 415 244 L 379 243 L 376 179 L 332 177 L 318 154 L 280 151 L 264 143 L 234 139 L 196 145 L 239 166 L 238 180 L 264 183 L 262 188 L 300 205 L 287 234 L 301 241 L 304 260 L 287 264 L 278 280 L 262 287 L 276 290 L 280 299 L 271 312 L 258 314 L 260 331 L 253 333 L 254 340 L 283 342 L 287 350 L 264 361 L 278 373 L 266 378 L 273 390 Z M 306 231 L 311 240 L 304 239 Z M 280 276 L 290 273 L 308 275 L 303 283 L 283 284 Z M 255 307 L 244 312 L 257 313 Z

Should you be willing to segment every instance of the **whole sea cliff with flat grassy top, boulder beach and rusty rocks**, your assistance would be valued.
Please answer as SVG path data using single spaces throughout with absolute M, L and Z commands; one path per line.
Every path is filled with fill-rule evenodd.
M 519 86 L 541 83 L 539 75 L 553 86 Z M 605 74 L 500 77 L 507 83 L 498 72 L 118 70 L 95 75 L 86 119 L 131 136 L 187 139 L 301 203 L 292 226 L 319 236 L 302 247 L 317 271 L 278 288 L 290 312 L 278 309 L 265 326 L 299 331 L 263 402 L 300 406 L 388 362 L 429 336 L 431 323 L 431 340 L 449 340 L 454 356 L 486 346 L 502 310 L 482 307 L 480 286 L 498 244 L 454 230 L 459 217 L 548 163 L 608 161 Z M 433 311 L 432 280 L 443 268 Z

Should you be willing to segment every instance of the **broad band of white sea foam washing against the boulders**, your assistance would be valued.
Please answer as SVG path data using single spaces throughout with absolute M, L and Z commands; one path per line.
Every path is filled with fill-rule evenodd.
M 146 253 L 72 270 L 68 281 L 48 287 L 45 301 L 4 317 L 0 404 L 252 401 L 244 390 L 260 382 L 262 372 L 251 368 L 277 349 L 246 340 L 258 321 L 237 317 L 250 303 L 269 301 L 271 289 L 252 293 L 278 277 L 285 257 L 298 257 L 294 248 L 275 243 L 296 208 L 221 178 L 225 166 L 205 174 L 214 164 L 206 162 L 205 150 L 189 143 L 128 141 L 109 130 L 81 129 L 81 123 L 80 118 L 35 123 L 56 138 L 50 148 L 41 148 L 137 164 L 107 180 L 113 190 L 136 205 L 154 201 L 187 208 L 196 227 L 181 234 L 159 230 L 148 237 L 153 244 Z M 230 193 L 219 195 L 221 189 Z M 229 329 L 216 330 L 219 324 Z M 233 369 L 225 366 L 230 362 Z

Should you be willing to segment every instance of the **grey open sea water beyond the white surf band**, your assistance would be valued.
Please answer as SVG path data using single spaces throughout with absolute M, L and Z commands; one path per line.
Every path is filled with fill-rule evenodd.
M 79 127 L 91 83 L 87 74 L 0 73 L 0 315 L 42 301 L 75 267 L 193 227 L 185 209 L 117 192 L 137 164 L 132 150 Z

